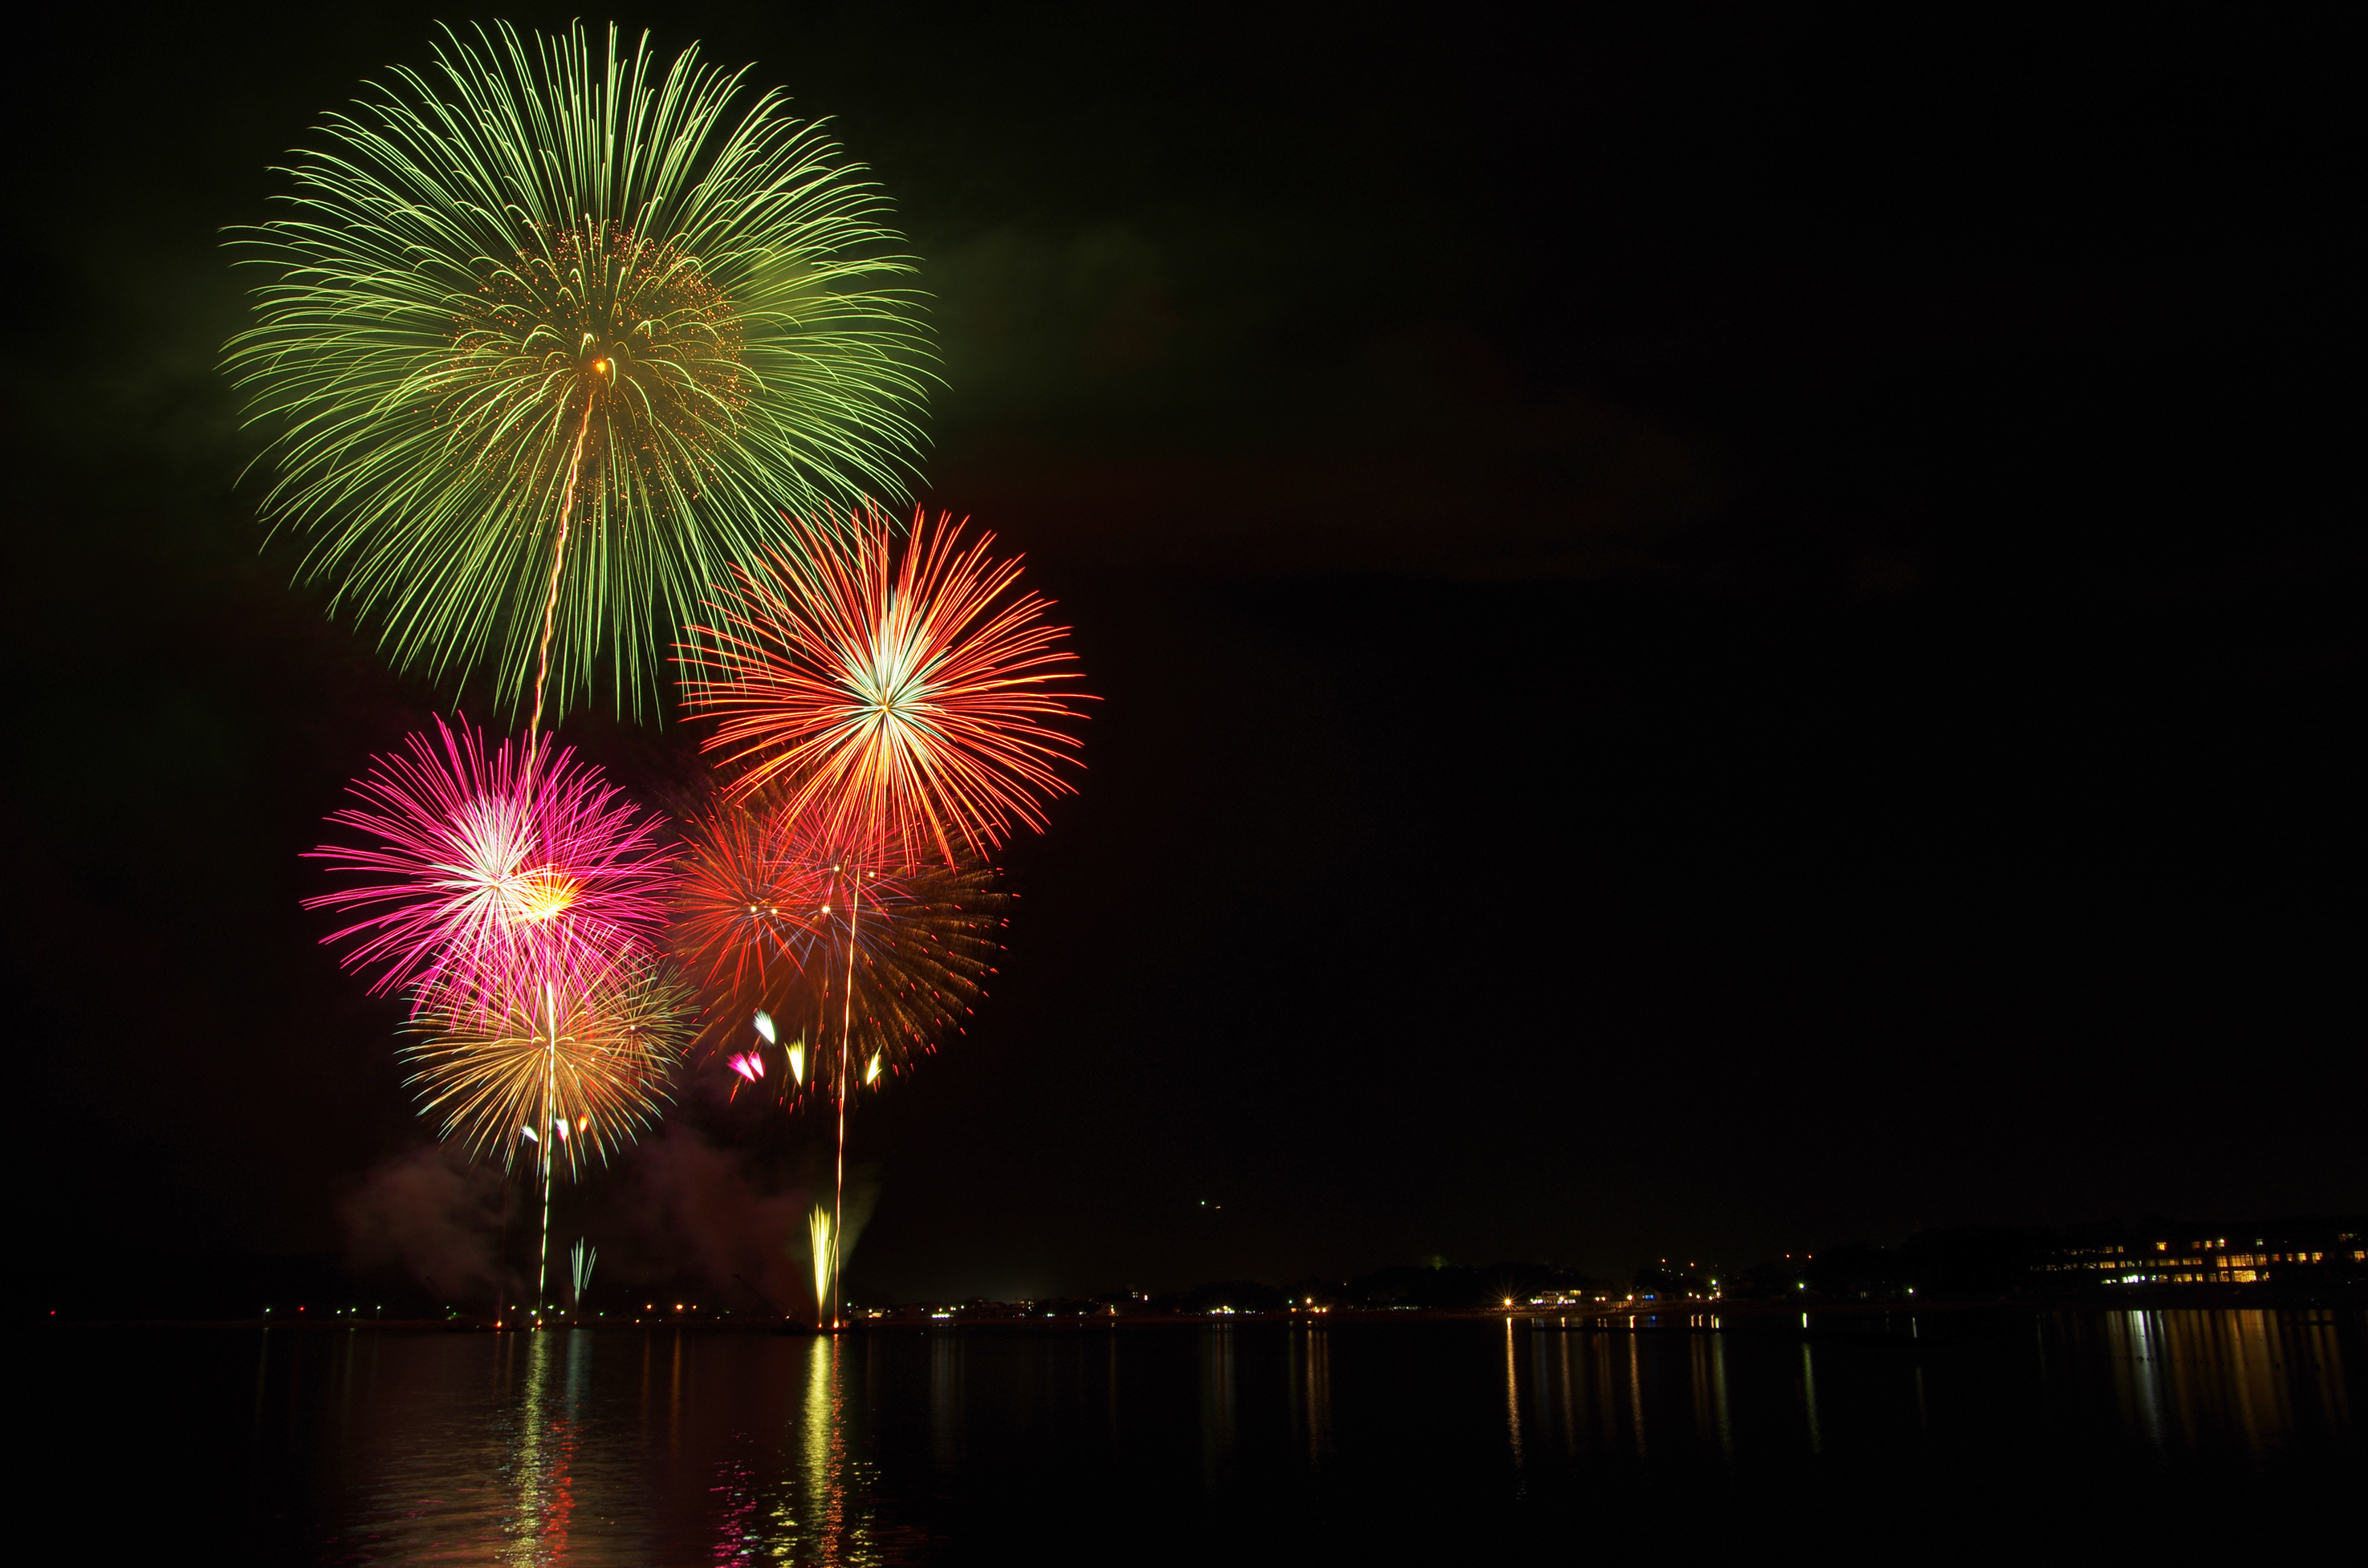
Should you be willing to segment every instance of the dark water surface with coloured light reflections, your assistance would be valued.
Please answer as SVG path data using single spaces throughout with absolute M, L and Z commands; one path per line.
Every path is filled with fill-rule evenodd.
M 54 1329 L 26 1504 L 73 1561 L 1864 1561 L 2295 1540 L 2368 1480 L 2359 1310 L 1710 1324 Z

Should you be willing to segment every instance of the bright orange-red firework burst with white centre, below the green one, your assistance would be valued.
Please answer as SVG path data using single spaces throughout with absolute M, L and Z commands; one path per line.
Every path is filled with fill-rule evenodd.
M 741 770 L 729 798 L 772 789 L 826 838 L 876 831 L 907 865 L 980 860 L 1014 822 L 1042 831 L 1077 746 L 1044 720 L 1082 694 L 1056 689 L 1077 680 L 1068 628 L 1011 592 L 1018 559 L 992 559 L 992 533 L 964 545 L 952 514 L 916 512 L 902 550 L 879 512 L 789 526 L 796 554 L 734 566 L 718 625 L 689 628 L 680 656 L 691 711 L 715 720 L 703 748 Z

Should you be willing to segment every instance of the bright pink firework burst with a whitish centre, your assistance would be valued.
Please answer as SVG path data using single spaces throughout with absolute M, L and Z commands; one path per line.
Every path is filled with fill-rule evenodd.
M 656 947 L 673 888 L 658 815 L 549 741 L 540 760 L 509 741 L 488 753 L 466 720 L 436 720 L 407 746 L 355 779 L 362 805 L 329 815 L 365 843 L 310 853 L 362 879 L 305 907 L 362 914 L 327 940 L 360 938 L 346 966 L 374 992 L 493 995 Z

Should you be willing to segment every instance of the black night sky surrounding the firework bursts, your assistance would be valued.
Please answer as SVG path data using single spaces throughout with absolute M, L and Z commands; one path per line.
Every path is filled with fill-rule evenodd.
M 938 301 L 928 497 L 1028 552 L 1106 699 L 980 1021 L 860 1123 L 857 1289 L 2368 1206 L 2335 38 L 954 14 L 620 14 L 876 168 Z M 298 850 L 455 694 L 258 552 L 218 227 L 431 21 L 47 26 L 0 377 L 17 1222 L 88 1277 L 332 1253 L 426 1132 Z M 687 746 L 566 732 L 637 784 Z M 651 1158 L 762 1199 L 807 1132 L 694 1104 Z

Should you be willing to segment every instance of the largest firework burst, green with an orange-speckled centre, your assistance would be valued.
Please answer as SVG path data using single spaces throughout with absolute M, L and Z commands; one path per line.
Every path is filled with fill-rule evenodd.
M 448 31 L 329 116 L 225 369 L 263 516 L 405 668 L 500 701 L 658 685 L 658 637 L 781 512 L 902 495 L 926 336 L 886 201 L 741 73 L 580 26 Z M 670 623 L 670 625 L 668 625 Z

